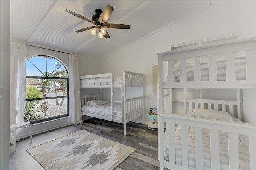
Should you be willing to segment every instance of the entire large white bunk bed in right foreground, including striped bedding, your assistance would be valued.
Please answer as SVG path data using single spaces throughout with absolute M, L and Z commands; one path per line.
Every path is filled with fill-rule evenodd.
M 238 78 L 240 75 L 236 68 L 236 58 L 241 51 L 246 55 L 246 77 L 242 79 Z M 217 76 L 220 55 L 225 56 L 226 67 L 222 81 Z M 201 77 L 204 67 L 202 58 L 205 56 L 208 57 L 208 80 Z M 190 76 L 187 75 L 187 66 L 191 61 L 194 65 L 192 81 L 187 79 Z M 175 80 L 176 63 L 180 65 L 180 81 Z M 167 81 L 164 78 L 165 70 L 168 72 Z M 256 169 L 256 125 L 239 120 L 243 113 L 242 89 L 256 88 L 255 38 L 158 53 L 158 74 L 160 169 Z M 172 113 L 175 99 L 172 99 L 171 93 L 175 88 L 184 88 L 183 115 Z M 186 93 L 188 88 L 201 89 L 199 99 L 189 99 Z M 234 89 L 237 97 L 234 101 L 202 99 L 202 88 Z M 194 115 L 198 108 L 203 112 L 197 117 L 189 115 Z M 202 118 L 206 112 L 210 118 L 216 116 L 218 111 L 222 111 L 218 118 Z M 231 116 L 234 121 L 224 119 L 226 116 Z

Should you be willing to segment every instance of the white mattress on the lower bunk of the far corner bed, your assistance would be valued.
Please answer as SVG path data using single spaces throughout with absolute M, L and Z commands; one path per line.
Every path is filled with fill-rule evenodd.
M 122 111 L 121 103 L 114 103 L 114 110 Z M 95 105 L 95 106 L 85 104 L 82 106 L 82 112 L 105 116 L 105 117 L 111 117 L 112 115 L 111 103 L 107 103 L 104 105 Z M 115 115 L 122 115 L 122 113 L 115 112 Z M 116 116 L 113 116 L 112 118 L 122 119 L 121 117 L 116 117 Z

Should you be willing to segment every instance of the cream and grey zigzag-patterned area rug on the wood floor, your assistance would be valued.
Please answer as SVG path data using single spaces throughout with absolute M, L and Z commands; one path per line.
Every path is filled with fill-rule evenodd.
M 134 150 L 80 130 L 27 151 L 46 170 L 109 170 L 116 168 Z

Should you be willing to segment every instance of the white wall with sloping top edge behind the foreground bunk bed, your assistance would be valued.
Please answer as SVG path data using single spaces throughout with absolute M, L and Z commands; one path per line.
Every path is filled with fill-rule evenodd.
M 254 37 L 256 36 L 255 20 L 255 1 L 233 1 L 209 6 L 105 57 L 101 60 L 101 73 L 112 72 L 114 75 L 122 75 L 123 70 L 128 70 L 145 74 L 144 120 L 146 121 L 146 113 L 150 107 L 157 107 L 156 95 L 152 95 L 151 73 L 151 66 L 158 64 L 156 53 L 170 51 L 170 45 L 230 34 L 240 33 L 241 39 Z

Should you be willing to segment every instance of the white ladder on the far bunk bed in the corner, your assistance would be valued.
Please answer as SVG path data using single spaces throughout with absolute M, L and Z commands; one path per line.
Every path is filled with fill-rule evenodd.
M 123 112 L 123 101 L 122 101 L 122 90 L 123 85 L 119 88 L 114 88 L 113 85 L 111 87 L 111 107 L 112 107 L 112 120 L 123 122 L 122 112 Z M 118 97 L 116 97 L 118 96 Z M 118 99 L 118 100 L 116 100 Z M 120 100 L 119 100 L 120 99 Z M 121 103 L 122 109 L 121 110 L 114 110 L 114 103 Z

